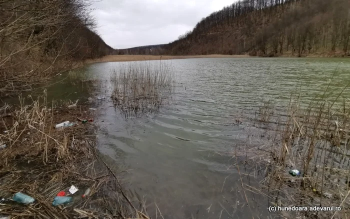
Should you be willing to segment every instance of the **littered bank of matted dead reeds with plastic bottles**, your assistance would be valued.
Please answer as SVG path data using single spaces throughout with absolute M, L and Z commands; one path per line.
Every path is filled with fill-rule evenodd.
M 97 110 L 45 99 L 0 110 L 0 218 L 149 218 L 98 156 Z

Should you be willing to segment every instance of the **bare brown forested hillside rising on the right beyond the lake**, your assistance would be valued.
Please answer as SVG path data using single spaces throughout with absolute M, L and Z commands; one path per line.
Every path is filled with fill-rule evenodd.
M 349 5 L 349 0 L 241 0 L 202 18 L 173 42 L 119 53 L 347 56 Z

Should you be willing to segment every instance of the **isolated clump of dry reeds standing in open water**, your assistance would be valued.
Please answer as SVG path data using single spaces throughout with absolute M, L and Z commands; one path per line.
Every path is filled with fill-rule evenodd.
M 127 113 L 153 112 L 174 91 L 174 72 L 169 64 L 141 61 L 111 69 L 113 105 Z

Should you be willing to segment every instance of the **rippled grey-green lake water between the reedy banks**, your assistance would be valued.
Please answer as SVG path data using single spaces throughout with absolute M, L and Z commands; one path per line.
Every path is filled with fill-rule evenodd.
M 261 176 L 241 164 L 244 157 L 230 153 L 246 144 L 249 122 L 245 116 L 253 117 L 265 100 L 285 106 L 295 89 L 307 101 L 323 91 L 330 78 L 329 89 L 335 93 L 350 82 L 350 59 L 346 58 L 162 62 L 173 66 L 176 88 L 171 103 L 159 112 L 125 119 L 110 101 L 95 103 L 98 150 L 117 171 L 131 169 L 122 173 L 124 186 L 134 199 L 144 197 L 152 218 L 156 214 L 161 218 L 155 205 L 164 218 L 267 218 L 268 199 L 241 188 L 241 177 L 245 187 L 256 187 Z M 93 63 L 80 71 L 84 77 L 101 79 L 92 89 L 109 97 L 110 69 L 122 64 Z M 86 98 L 78 87 L 55 84 L 49 98 Z M 349 89 L 341 96 L 349 98 Z M 236 125 L 236 120 L 243 123 Z

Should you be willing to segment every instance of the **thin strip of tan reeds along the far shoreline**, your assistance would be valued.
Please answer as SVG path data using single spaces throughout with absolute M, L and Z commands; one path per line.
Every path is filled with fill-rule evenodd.
M 184 59 L 184 58 L 246 58 L 253 57 L 249 55 L 106 55 L 101 58 L 88 59 L 85 63 L 94 62 L 109 62 L 109 61 L 141 61 L 141 60 L 169 60 L 169 59 Z

